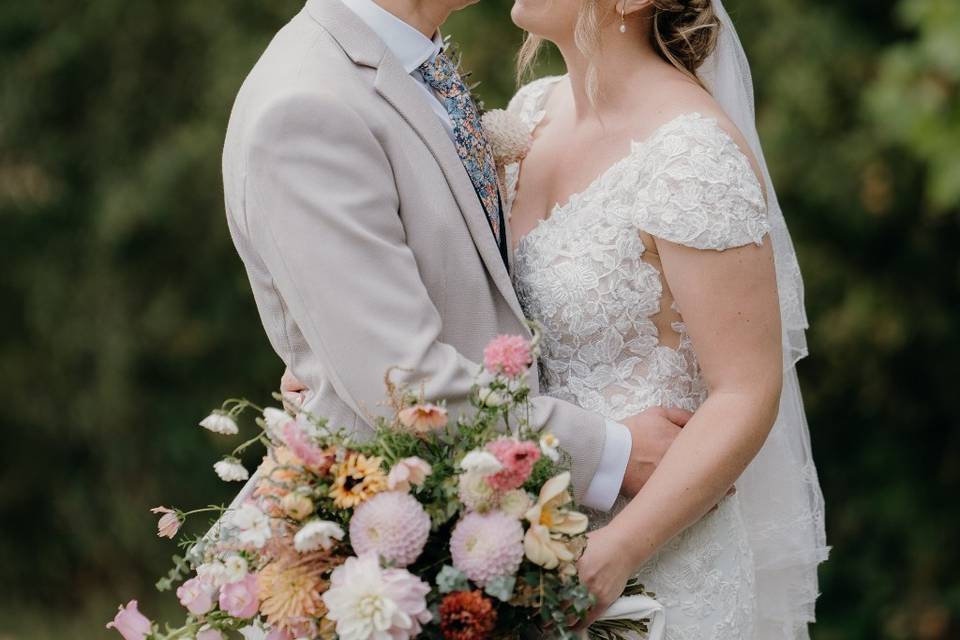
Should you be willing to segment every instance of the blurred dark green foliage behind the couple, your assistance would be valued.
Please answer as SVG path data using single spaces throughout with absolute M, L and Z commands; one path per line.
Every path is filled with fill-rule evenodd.
M 332 0 L 331 0 L 332 1 Z M 0 640 L 111 637 L 227 500 L 196 427 L 281 366 L 224 221 L 233 97 L 300 0 L 0 3 Z M 488 108 L 509 0 L 446 27 Z M 960 637 L 960 2 L 731 0 L 807 283 L 818 640 Z M 545 61 L 556 70 L 559 59 Z M 318 247 L 318 250 L 321 250 Z

